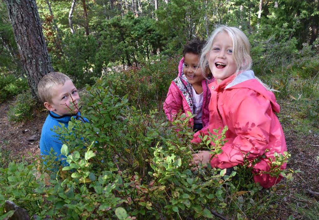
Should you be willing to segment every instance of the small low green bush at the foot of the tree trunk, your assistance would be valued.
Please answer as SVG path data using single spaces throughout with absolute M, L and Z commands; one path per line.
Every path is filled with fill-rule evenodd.
M 36 100 L 30 91 L 20 93 L 8 111 L 9 121 L 23 121 L 31 118 L 35 105 Z

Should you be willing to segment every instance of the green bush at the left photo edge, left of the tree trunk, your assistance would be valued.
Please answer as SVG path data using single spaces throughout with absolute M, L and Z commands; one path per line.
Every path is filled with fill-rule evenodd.
M 0 74 L 0 103 L 26 91 L 28 88 L 26 78 Z

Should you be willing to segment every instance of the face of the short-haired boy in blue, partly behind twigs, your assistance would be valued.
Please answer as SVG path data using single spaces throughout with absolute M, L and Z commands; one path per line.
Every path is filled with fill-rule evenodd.
M 45 102 L 44 106 L 58 115 L 70 114 L 72 111 L 77 113 L 79 99 L 77 88 L 68 79 L 64 84 L 58 84 L 52 90 L 52 101 L 51 103 Z

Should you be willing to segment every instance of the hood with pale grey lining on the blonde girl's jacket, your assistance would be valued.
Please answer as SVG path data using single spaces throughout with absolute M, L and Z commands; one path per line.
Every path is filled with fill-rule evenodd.
M 275 94 L 268 91 L 260 82 L 255 78 L 255 74 L 252 70 L 246 70 L 239 73 L 229 84 L 225 86 L 225 89 L 239 89 L 248 88 L 252 89 L 259 94 L 269 99 L 274 112 L 280 111 L 280 106 L 276 102 Z

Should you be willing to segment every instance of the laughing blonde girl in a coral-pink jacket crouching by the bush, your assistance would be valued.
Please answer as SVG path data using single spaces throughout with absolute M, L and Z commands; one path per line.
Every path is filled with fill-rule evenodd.
M 254 181 L 271 187 L 282 177 L 269 174 L 268 158 L 273 158 L 275 152 L 286 151 L 286 142 L 275 115 L 279 105 L 270 89 L 250 70 L 249 50 L 247 36 L 238 28 L 228 26 L 219 26 L 204 46 L 201 69 L 209 66 L 216 79 L 209 84 L 209 131 L 213 133 L 213 129 L 227 125 L 227 142 L 223 152 L 214 158 L 209 151 L 193 154 L 191 165 L 210 163 L 212 167 L 225 169 L 242 164 L 244 158 L 251 161 L 260 158 L 253 166 Z M 200 141 L 194 136 L 192 142 Z M 281 166 L 285 167 L 286 164 Z

